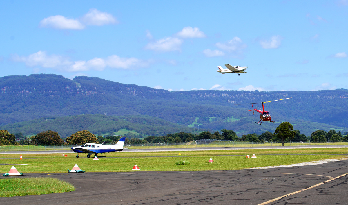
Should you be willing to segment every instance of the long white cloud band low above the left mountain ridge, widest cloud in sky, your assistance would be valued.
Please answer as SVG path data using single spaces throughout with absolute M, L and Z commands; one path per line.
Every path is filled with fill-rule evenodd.
M 110 55 L 106 59 L 93 58 L 88 61 L 71 61 L 67 57 L 61 55 L 48 55 L 45 51 L 30 54 L 29 56 L 20 57 L 12 55 L 11 60 L 24 62 L 28 67 L 41 66 L 43 68 L 53 68 L 67 72 L 78 72 L 86 70 L 104 70 L 105 67 L 111 68 L 139 68 L 147 67 L 151 63 L 150 60 L 140 60 L 137 58 L 121 58 L 118 55 Z

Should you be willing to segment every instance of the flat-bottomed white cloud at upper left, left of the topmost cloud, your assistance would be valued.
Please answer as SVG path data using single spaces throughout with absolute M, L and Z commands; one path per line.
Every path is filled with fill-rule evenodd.
M 61 15 L 49 16 L 40 21 L 40 27 L 81 30 L 85 26 L 78 19 L 68 19 Z

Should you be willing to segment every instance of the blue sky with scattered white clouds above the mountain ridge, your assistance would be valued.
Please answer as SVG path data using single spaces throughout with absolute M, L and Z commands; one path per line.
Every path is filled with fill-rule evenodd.
M 0 1 L 0 77 L 169 91 L 348 88 L 348 0 Z M 220 74 L 217 66 L 248 66 Z

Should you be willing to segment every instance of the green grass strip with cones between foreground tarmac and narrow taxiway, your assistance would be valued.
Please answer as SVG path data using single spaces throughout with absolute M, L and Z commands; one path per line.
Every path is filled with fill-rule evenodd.
M 252 155 L 253 152 L 248 153 Z M 124 172 L 132 171 L 137 164 L 141 171 L 195 171 L 195 170 L 238 170 L 260 166 L 275 166 L 311 162 L 323 159 L 340 159 L 344 155 L 257 155 L 256 159 L 245 156 L 185 156 L 185 157 L 100 157 L 93 158 L 37 158 L 37 159 L 2 159 L 1 163 L 25 163 L 16 165 L 19 172 L 25 173 L 64 173 L 75 164 L 86 172 Z M 214 163 L 208 163 L 212 158 Z M 190 166 L 176 166 L 178 160 L 189 160 Z M 0 166 L 0 173 L 7 173 L 11 165 Z

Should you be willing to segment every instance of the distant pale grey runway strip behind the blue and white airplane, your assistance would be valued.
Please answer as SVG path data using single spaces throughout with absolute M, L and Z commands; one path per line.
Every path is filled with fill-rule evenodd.
M 121 152 L 175 152 L 175 151 L 207 151 L 207 150 L 265 150 L 265 149 L 306 149 L 306 148 L 348 148 L 347 145 L 295 145 L 295 146 L 264 146 L 264 147 L 199 147 L 199 148 L 146 148 L 124 149 Z M 6 151 L 0 154 L 69 154 L 72 150 L 42 151 Z

